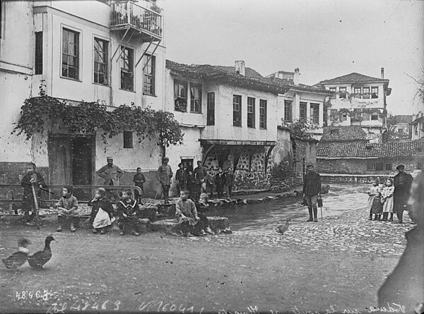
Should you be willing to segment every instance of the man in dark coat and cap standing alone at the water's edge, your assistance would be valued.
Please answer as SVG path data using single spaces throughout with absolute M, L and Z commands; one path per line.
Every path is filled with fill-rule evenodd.
M 309 210 L 310 217 L 307 222 L 318 222 L 318 208 L 317 198 L 321 194 L 321 177 L 314 171 L 314 165 L 307 165 L 307 172 L 303 178 L 303 196 L 306 197 L 307 210 Z M 314 216 L 312 217 L 312 211 Z

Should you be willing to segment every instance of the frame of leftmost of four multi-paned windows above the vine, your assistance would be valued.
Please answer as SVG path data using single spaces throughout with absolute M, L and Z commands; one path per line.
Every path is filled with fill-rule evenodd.
M 69 32 L 69 33 L 73 33 L 73 35 L 75 36 L 75 44 L 70 43 L 69 41 L 64 42 L 65 40 L 65 32 Z M 80 62 L 81 62 L 81 44 L 80 44 L 80 38 L 81 38 L 81 30 L 76 30 L 73 28 L 69 28 L 69 26 L 61 26 L 61 66 L 60 66 L 60 77 L 61 78 L 67 78 L 69 80 L 77 80 L 77 81 L 81 81 L 80 80 L 80 75 L 81 75 L 81 71 L 80 71 Z M 69 38 L 69 35 L 67 36 Z M 68 47 L 68 52 L 65 52 L 65 43 L 66 44 L 73 44 L 74 47 L 74 51 L 75 54 L 69 54 L 69 47 Z M 69 64 L 64 64 L 65 61 L 65 56 L 66 56 L 66 61 L 69 61 L 68 58 L 74 58 L 74 64 L 75 66 L 69 66 Z M 64 66 L 67 67 L 67 75 L 64 75 Z M 75 76 L 76 77 L 72 77 L 69 76 L 69 68 L 73 68 L 75 70 Z

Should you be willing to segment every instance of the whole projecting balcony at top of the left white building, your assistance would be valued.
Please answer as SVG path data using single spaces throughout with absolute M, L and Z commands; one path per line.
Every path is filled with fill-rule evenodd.
M 132 1 L 111 3 L 110 30 L 122 31 L 129 28 L 136 30 L 134 36 L 146 40 L 162 40 L 163 16 L 153 11 L 160 11 L 155 5 L 151 8 L 139 6 Z

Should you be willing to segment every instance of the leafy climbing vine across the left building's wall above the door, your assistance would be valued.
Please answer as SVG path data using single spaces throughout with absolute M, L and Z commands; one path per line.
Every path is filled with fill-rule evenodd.
M 124 131 L 135 131 L 139 143 L 157 135 L 158 145 L 164 147 L 182 144 L 184 136 L 170 112 L 149 107 L 142 109 L 135 104 L 123 104 L 113 111 L 107 111 L 102 102 L 80 102 L 77 106 L 71 106 L 46 95 L 43 85 L 40 86 L 38 97 L 25 99 L 20 107 L 18 122 L 13 123 L 15 127 L 12 133 L 25 135 L 26 140 L 29 140 L 35 133 L 45 133 L 58 120 L 63 122 L 71 135 L 100 132 L 105 144 L 107 138 Z

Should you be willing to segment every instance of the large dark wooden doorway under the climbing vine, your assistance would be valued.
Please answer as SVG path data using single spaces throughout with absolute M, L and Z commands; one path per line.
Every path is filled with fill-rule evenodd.
M 49 135 L 47 150 L 50 185 L 90 186 L 93 184 L 94 137 Z M 56 195 L 54 198 L 58 198 L 57 193 L 61 195 L 59 188 L 53 192 Z M 91 189 L 75 189 L 73 195 L 81 200 L 90 199 Z

